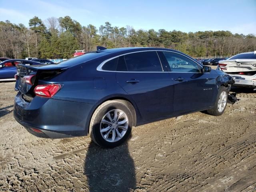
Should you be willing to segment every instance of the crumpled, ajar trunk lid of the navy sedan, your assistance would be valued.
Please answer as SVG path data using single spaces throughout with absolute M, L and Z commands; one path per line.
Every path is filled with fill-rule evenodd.
M 64 70 L 66 70 L 67 66 L 58 66 L 54 64 L 46 64 L 46 65 L 34 65 L 28 66 L 23 64 L 16 65 L 17 73 L 16 73 L 16 84 L 15 90 L 20 91 L 22 95 L 27 95 L 30 97 L 34 97 L 34 88 L 38 85 L 39 79 L 49 78 L 51 76 L 55 76 L 60 74 Z M 26 79 L 24 76 L 34 75 L 31 78 L 32 85 L 26 83 Z

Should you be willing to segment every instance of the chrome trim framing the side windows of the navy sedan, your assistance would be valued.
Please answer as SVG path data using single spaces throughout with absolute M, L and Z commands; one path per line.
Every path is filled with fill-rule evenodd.
M 163 71 L 109 71 L 109 70 L 103 70 L 103 69 L 102 69 L 102 66 L 103 66 L 106 62 L 108 62 L 108 61 L 110 61 L 110 60 L 112 60 L 112 59 L 115 59 L 115 58 L 120 57 L 120 56 L 128 55 L 128 54 L 132 54 L 132 53 L 147 52 L 147 51 L 155 51 L 157 55 L 158 55 L 158 53 L 157 53 L 158 51 L 165 51 L 165 52 L 172 52 L 172 53 L 180 54 L 180 55 L 182 55 L 182 56 L 184 56 L 184 57 L 190 59 L 192 62 L 196 63 L 197 65 L 200 65 L 200 64 L 198 64 L 197 62 L 195 62 L 194 60 L 192 60 L 191 58 L 189 58 L 188 56 L 186 56 L 186 55 L 184 55 L 184 54 L 181 54 L 181 53 L 178 53 L 178 52 L 175 52 L 175 51 L 168 51 L 168 50 L 143 50 L 143 51 L 134 51 L 134 52 L 130 52 L 130 53 L 121 54 L 121 55 L 118 55 L 118 56 L 114 56 L 114 57 L 112 57 L 112 58 L 109 58 L 109 59 L 107 59 L 107 60 L 104 60 L 104 61 L 96 68 L 96 70 L 97 70 L 97 71 L 103 71 L 103 72 L 122 72 L 122 73 L 198 73 L 198 72 L 173 72 L 173 71 L 164 71 L 164 70 L 163 70 L 163 66 L 162 66 L 162 62 L 161 62 L 159 56 L 158 56 L 158 59 L 159 59 L 159 61 L 160 61 L 160 64 L 161 64 L 161 66 L 162 66 L 162 70 L 163 70 Z M 201 66 L 201 65 L 200 65 L 200 66 Z M 203 67 L 203 66 L 201 66 L 201 67 Z M 199 66 L 198 66 L 198 69 L 199 69 L 199 71 L 200 71 Z M 199 72 L 199 73 L 201 73 L 201 72 Z

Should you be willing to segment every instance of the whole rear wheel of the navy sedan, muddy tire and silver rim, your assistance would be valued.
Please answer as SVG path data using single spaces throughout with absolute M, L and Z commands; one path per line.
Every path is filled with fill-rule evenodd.
M 106 101 L 92 115 L 89 135 L 99 146 L 114 148 L 128 138 L 132 126 L 132 112 L 125 104 Z

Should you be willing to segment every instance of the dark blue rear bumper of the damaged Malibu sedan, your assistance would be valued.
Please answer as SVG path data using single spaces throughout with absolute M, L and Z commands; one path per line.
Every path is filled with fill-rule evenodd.
M 67 138 L 88 134 L 86 121 L 93 104 L 35 97 L 26 102 L 20 92 L 14 100 L 14 118 L 38 137 Z M 33 128 L 41 132 L 35 132 Z

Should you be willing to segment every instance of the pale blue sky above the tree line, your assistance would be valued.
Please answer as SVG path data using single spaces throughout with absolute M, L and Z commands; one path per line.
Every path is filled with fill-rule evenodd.
M 75 3 L 77 2 L 77 3 Z M 70 16 L 83 26 L 256 34 L 256 0 L 0 0 L 0 20 L 23 23 L 38 16 Z

